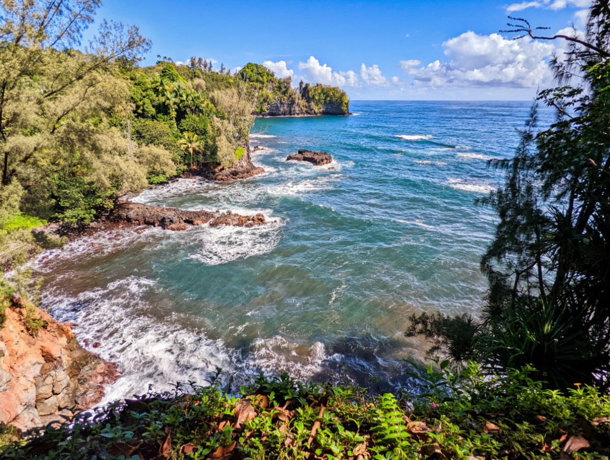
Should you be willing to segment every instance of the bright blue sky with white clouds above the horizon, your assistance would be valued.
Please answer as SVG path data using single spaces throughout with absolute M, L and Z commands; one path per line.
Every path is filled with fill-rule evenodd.
M 135 24 L 157 54 L 228 68 L 265 64 L 293 81 L 339 85 L 353 100 L 529 100 L 550 84 L 562 43 L 498 34 L 507 15 L 582 28 L 589 0 L 106 0 L 98 19 Z M 93 32 L 93 26 L 87 35 Z

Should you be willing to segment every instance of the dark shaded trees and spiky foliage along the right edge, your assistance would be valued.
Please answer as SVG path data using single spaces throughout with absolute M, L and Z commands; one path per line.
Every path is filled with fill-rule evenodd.
M 540 131 L 534 104 L 514 157 L 489 162 L 506 177 L 477 200 L 499 217 L 481 260 L 489 280 L 481 318 L 454 318 L 450 329 L 447 318 L 427 325 L 422 315 L 408 331 L 486 371 L 531 365 L 552 389 L 571 379 L 610 387 L 609 21 L 607 2 L 594 1 L 586 39 L 567 38 L 570 53 L 554 60 L 561 86 L 538 101 L 556 110 L 556 122 Z M 457 332 L 469 326 L 464 341 Z

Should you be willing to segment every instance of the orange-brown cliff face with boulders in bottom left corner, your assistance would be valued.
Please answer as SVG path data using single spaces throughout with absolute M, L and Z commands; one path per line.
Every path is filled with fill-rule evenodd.
M 104 385 L 118 378 L 115 365 L 85 351 L 68 324 L 38 309 L 46 326 L 32 337 L 26 316 L 35 307 L 19 296 L 12 300 L 0 329 L 0 423 L 25 430 L 97 404 Z

